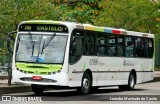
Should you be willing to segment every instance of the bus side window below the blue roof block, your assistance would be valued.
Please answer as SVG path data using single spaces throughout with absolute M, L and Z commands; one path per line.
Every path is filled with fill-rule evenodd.
M 116 49 L 116 36 L 109 35 L 108 36 L 108 56 L 116 56 L 117 49 Z

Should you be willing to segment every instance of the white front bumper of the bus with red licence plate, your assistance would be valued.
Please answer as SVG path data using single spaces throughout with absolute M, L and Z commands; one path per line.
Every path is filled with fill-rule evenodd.
M 68 76 L 60 72 L 53 75 L 25 74 L 16 69 L 12 71 L 12 82 L 23 84 L 67 86 Z

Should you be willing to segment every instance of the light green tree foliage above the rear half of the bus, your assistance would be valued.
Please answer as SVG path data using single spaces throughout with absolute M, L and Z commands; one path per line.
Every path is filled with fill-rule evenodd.
M 148 0 L 107 0 L 99 4 L 103 12 L 94 19 L 95 25 L 155 32 L 158 3 Z

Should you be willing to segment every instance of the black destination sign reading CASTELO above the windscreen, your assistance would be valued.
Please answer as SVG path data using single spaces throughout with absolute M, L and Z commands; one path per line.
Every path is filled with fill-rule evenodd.
M 64 25 L 50 24 L 22 24 L 19 31 L 41 31 L 41 32 L 63 32 L 68 33 L 68 28 Z

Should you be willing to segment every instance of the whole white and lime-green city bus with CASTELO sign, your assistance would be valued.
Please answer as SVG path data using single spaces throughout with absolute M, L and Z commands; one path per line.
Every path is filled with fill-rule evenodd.
M 77 88 L 82 94 L 117 85 L 132 90 L 154 72 L 154 35 L 60 21 L 24 21 L 17 29 L 12 80 L 47 87 Z

